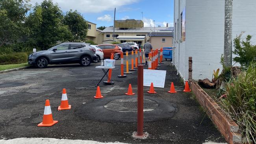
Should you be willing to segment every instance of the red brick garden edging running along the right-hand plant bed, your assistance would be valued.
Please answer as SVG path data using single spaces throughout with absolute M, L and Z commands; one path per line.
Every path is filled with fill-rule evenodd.
M 191 90 L 196 95 L 200 105 L 204 107 L 214 124 L 218 127 L 221 134 L 229 144 L 241 144 L 242 138 L 239 131 L 239 126 L 229 118 L 221 107 L 197 84 L 191 82 Z

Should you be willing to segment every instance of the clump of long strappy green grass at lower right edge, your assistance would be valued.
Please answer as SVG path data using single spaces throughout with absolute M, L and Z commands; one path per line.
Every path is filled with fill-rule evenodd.
M 222 107 L 239 125 L 241 135 L 256 143 L 256 64 L 227 83 L 226 92 Z

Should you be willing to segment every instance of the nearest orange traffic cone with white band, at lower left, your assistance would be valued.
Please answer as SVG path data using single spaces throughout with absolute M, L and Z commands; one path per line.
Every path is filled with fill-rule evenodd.
M 43 122 L 38 124 L 37 126 L 39 127 L 50 127 L 56 124 L 58 120 L 53 120 L 52 119 L 52 110 L 50 106 L 50 101 L 46 100 L 45 101 L 45 111 L 44 111 L 44 116 L 43 116 Z

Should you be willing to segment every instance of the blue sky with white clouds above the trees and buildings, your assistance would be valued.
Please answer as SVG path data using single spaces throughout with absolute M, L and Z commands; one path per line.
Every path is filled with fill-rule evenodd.
M 31 0 L 41 3 L 43 0 Z M 173 0 L 52 0 L 58 3 L 63 12 L 77 9 L 85 20 L 98 26 L 113 26 L 114 9 L 116 20 L 132 18 L 142 19 L 145 27 L 173 26 Z

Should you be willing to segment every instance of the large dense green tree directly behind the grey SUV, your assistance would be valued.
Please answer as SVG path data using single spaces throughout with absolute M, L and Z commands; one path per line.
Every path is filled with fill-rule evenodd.
M 30 30 L 28 42 L 41 50 L 54 46 L 58 41 L 67 41 L 72 35 L 62 23 L 63 14 L 52 0 L 44 0 L 35 4 L 25 24 Z

